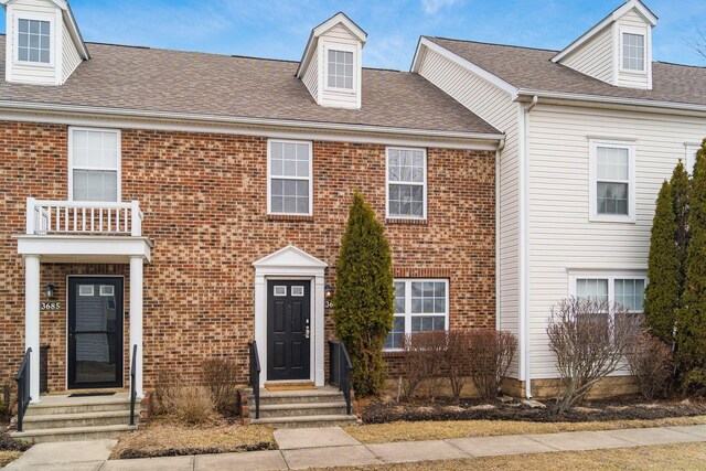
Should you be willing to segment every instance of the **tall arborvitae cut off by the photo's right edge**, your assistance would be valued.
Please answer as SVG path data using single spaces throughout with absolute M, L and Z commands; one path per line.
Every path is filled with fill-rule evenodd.
M 687 392 L 706 393 L 706 139 L 696 153 L 686 250 L 686 280 L 677 324 L 678 360 Z

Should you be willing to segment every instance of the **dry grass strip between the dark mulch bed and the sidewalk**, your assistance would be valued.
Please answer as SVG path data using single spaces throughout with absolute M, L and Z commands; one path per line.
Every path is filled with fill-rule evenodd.
M 706 424 L 706 416 L 590 422 L 528 422 L 511 420 L 397 421 L 346 427 L 345 431 L 362 443 L 384 443 L 388 441 L 445 440 L 448 438 L 463 437 L 616 430 L 621 428 L 671 427 L 700 424 Z

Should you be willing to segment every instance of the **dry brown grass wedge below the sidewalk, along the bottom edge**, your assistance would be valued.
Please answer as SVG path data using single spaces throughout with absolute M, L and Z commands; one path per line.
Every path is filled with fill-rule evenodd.
M 668 445 L 595 451 L 515 454 L 511 457 L 470 458 L 464 460 L 426 461 L 421 463 L 383 464 L 366 468 L 336 468 L 339 471 L 564 471 L 564 470 L 703 470 L 706 469 L 706 443 Z

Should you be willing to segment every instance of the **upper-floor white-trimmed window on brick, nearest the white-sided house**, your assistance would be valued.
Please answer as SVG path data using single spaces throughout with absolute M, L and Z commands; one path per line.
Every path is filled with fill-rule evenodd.
M 427 217 L 427 152 L 387 148 L 387 217 Z

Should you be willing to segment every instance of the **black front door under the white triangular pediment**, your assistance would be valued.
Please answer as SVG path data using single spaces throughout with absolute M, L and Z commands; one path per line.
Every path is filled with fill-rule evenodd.
M 267 379 L 309 379 L 311 283 L 267 282 Z

